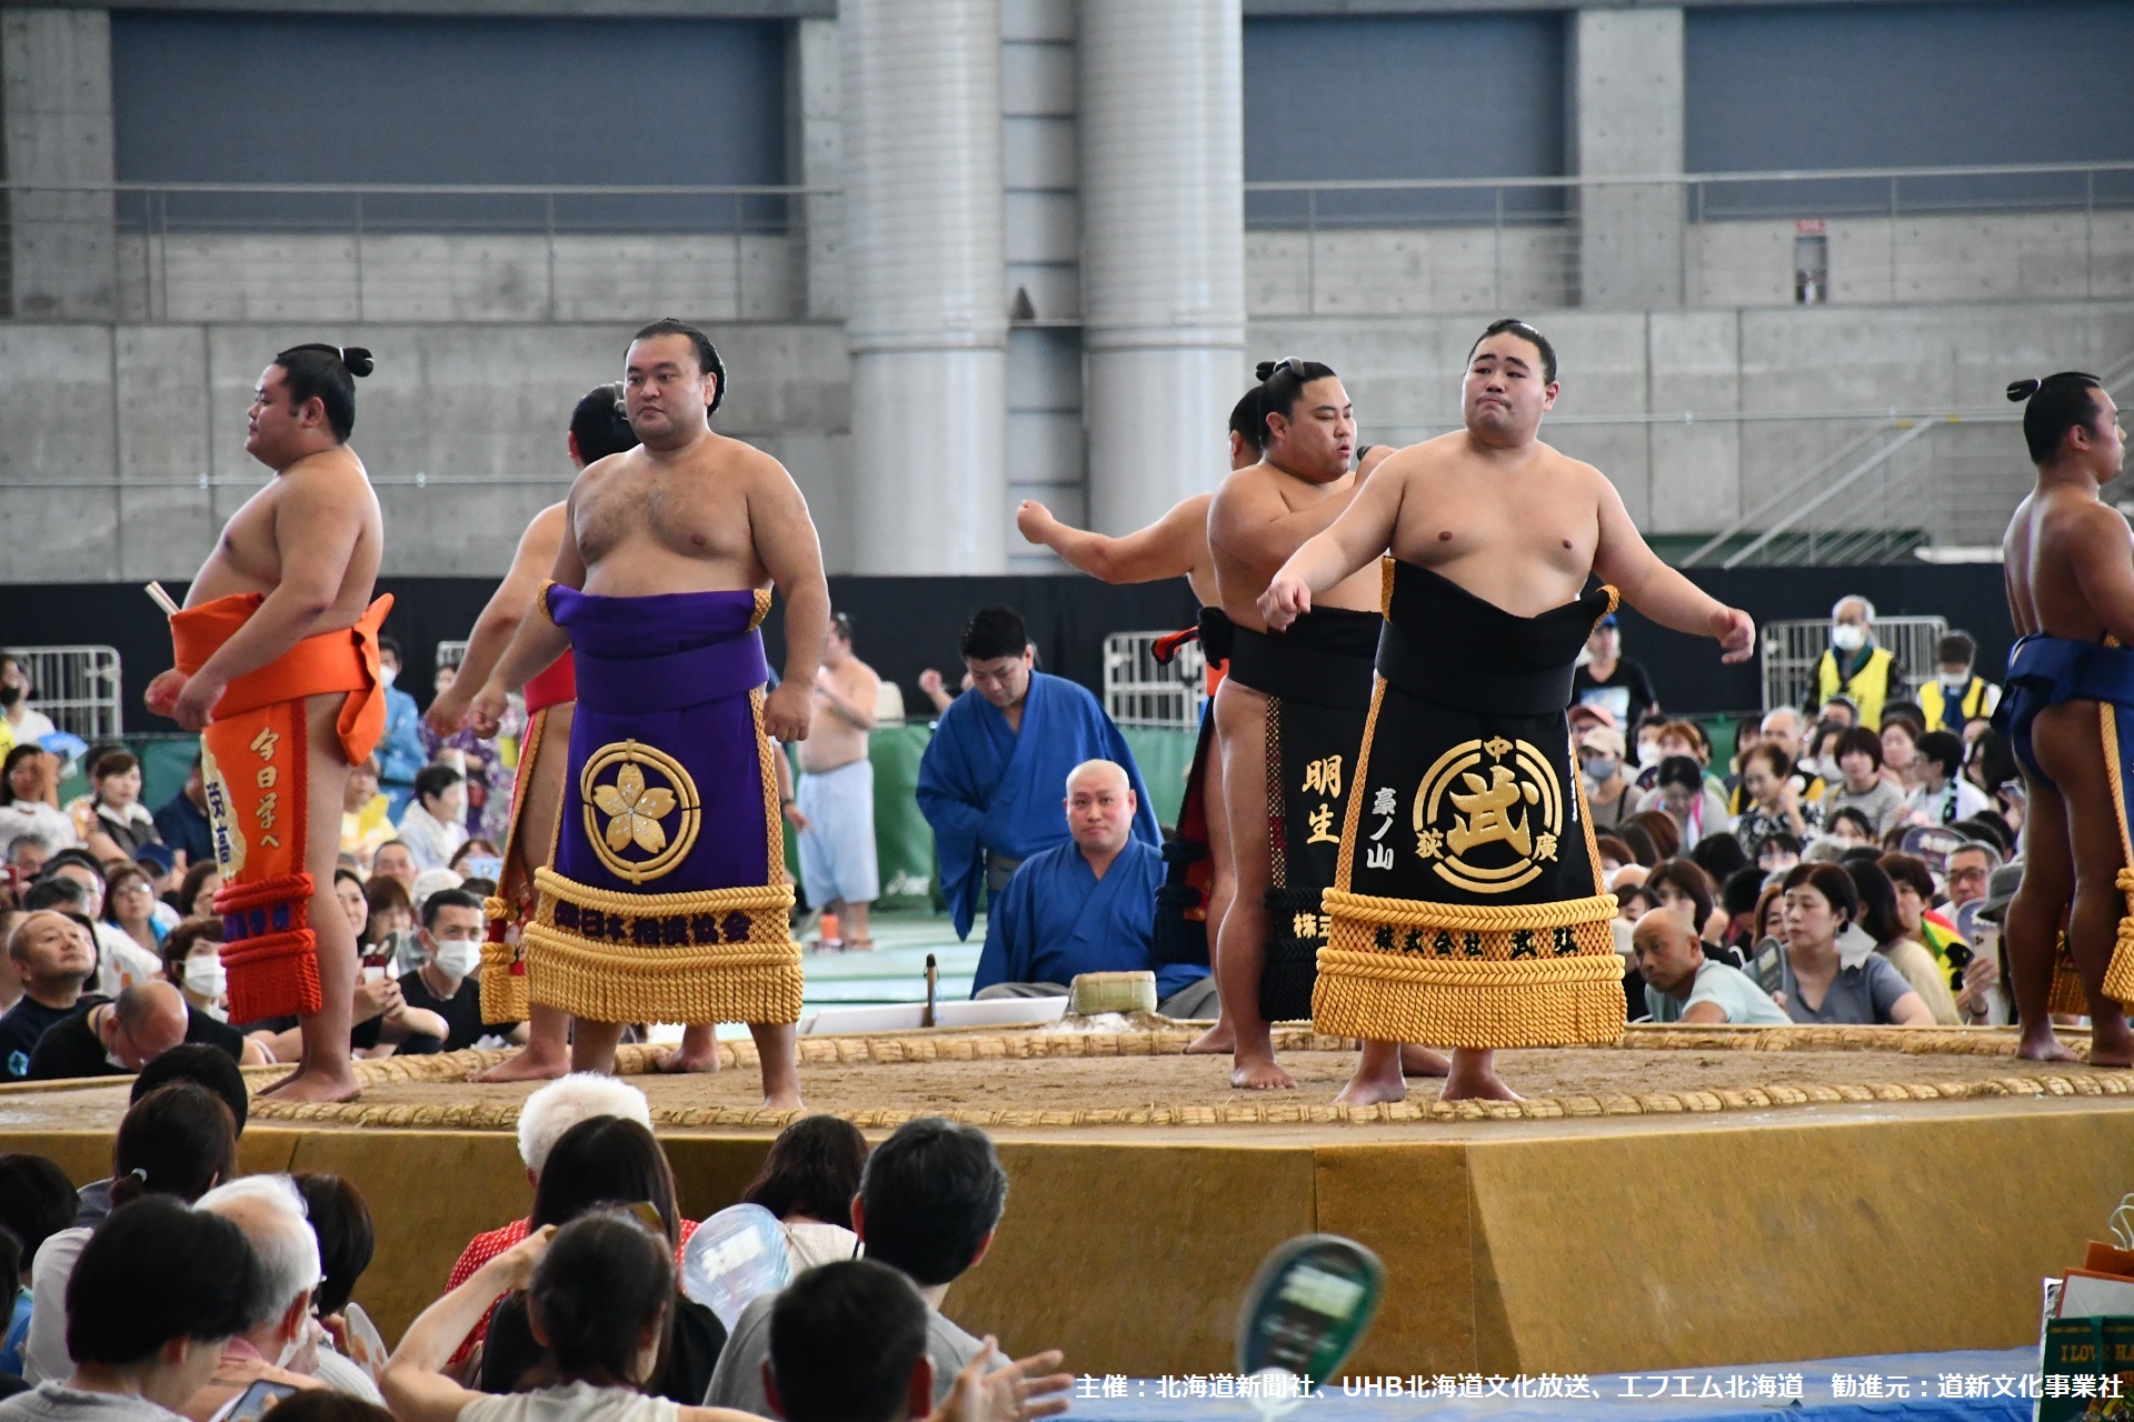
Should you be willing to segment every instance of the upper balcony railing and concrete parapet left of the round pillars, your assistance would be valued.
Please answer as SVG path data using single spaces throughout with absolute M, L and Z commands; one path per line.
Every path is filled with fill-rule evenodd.
M 0 183 L 0 292 L 34 318 L 612 320 L 805 313 L 839 194 L 805 185 Z

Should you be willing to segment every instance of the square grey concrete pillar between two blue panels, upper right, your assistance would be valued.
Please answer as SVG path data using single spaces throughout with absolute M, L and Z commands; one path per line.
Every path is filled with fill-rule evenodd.
M 1682 173 L 1682 11 L 1579 11 L 1571 36 L 1573 171 Z M 1682 226 L 1682 183 L 1581 190 L 1581 305 L 1679 307 Z

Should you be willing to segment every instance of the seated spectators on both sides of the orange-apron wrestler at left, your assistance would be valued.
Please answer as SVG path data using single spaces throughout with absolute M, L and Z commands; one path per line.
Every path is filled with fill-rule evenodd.
M 391 642 L 384 665 L 399 669 Z M 201 761 L 149 810 L 134 753 L 85 748 L 87 793 L 62 804 L 66 736 L 30 710 L 21 663 L 6 655 L 0 689 L 15 691 L 17 712 L 0 761 L 0 1081 L 117 1074 L 177 1043 L 248 1066 L 294 1060 L 294 1019 L 228 1021 Z M 476 983 L 512 772 L 495 742 L 437 738 L 408 693 L 391 689 L 388 701 L 386 738 L 348 782 L 335 872 L 363 944 L 356 1053 L 519 1040 L 519 1025 L 482 1025 Z

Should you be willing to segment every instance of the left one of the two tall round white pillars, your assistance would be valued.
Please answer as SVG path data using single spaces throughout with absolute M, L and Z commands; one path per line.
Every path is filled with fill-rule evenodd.
M 999 0 L 843 0 L 860 573 L 1007 569 Z

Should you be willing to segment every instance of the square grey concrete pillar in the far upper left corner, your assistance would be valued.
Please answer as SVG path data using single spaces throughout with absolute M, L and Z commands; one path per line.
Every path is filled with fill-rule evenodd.
M 111 11 L 0 11 L 0 128 L 15 316 L 113 320 L 111 194 L 36 188 L 111 181 Z

